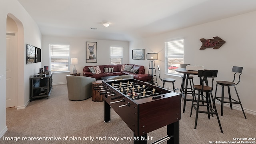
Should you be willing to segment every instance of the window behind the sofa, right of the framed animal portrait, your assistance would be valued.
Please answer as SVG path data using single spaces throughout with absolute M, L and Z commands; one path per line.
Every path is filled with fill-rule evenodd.
M 112 59 L 121 59 L 121 62 L 112 62 Z M 123 48 L 118 46 L 110 46 L 110 63 L 111 64 L 122 64 L 123 62 Z

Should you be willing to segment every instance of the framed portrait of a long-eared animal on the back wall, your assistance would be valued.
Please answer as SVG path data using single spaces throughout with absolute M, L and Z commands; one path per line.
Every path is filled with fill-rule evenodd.
M 97 62 L 97 42 L 86 42 L 86 63 Z

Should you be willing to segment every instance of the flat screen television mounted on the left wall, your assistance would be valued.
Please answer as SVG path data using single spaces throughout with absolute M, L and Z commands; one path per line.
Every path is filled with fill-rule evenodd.
M 41 49 L 27 44 L 27 64 L 41 62 Z

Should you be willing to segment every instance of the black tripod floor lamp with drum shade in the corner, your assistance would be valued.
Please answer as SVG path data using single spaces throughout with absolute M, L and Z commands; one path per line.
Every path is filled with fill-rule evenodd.
M 155 61 L 157 60 L 157 53 L 147 53 L 147 60 L 149 61 L 149 66 L 148 66 L 148 74 L 150 72 L 151 69 L 151 74 L 149 74 L 152 79 L 151 79 L 151 84 L 156 84 L 157 85 L 157 78 L 156 78 L 156 82 L 154 82 L 154 76 L 156 77 L 156 66 L 155 66 Z M 154 67 L 153 67 L 153 62 L 154 62 Z M 153 74 L 153 70 L 155 70 L 155 73 Z

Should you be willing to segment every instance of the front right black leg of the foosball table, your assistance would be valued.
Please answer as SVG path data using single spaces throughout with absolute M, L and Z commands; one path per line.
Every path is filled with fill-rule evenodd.
M 180 144 L 180 121 L 167 125 L 167 135 L 173 136 L 167 144 Z

